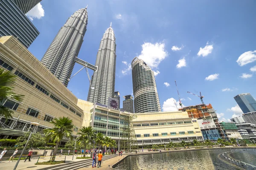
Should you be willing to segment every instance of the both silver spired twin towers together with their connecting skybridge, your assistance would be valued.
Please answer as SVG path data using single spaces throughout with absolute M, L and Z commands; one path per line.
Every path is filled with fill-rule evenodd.
M 47 49 L 41 62 L 65 86 L 68 85 L 75 63 L 94 70 L 88 92 L 88 102 L 108 104 L 113 97 L 116 73 L 116 39 L 110 26 L 102 37 L 96 58 L 96 67 L 77 58 L 87 27 L 87 7 L 76 11 Z

